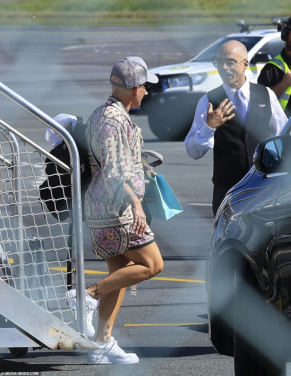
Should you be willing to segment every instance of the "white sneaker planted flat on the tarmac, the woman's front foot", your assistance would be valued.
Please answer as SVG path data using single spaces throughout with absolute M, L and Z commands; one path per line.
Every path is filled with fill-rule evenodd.
M 139 362 L 139 357 L 134 353 L 126 353 L 122 350 L 114 337 L 110 337 L 107 343 L 95 342 L 100 350 L 88 352 L 88 363 L 94 364 L 134 364 Z

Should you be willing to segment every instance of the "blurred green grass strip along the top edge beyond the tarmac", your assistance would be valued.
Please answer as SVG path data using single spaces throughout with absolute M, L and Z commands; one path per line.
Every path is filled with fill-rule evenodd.
M 289 16 L 289 1 L 273 0 L 11 0 L 0 2 L 0 24 L 75 26 L 269 22 Z

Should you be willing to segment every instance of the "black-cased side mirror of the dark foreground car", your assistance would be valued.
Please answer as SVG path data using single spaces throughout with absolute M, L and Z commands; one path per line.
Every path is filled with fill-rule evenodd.
M 289 135 L 264 139 L 256 148 L 253 162 L 257 170 L 265 174 L 288 171 L 291 137 Z

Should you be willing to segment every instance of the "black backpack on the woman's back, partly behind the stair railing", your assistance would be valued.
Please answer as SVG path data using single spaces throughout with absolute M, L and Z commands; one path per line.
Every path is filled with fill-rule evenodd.
M 84 209 L 84 196 L 91 183 L 91 170 L 88 163 L 88 146 L 85 137 L 86 124 L 83 118 L 77 116 L 77 123 L 72 129 L 72 123 L 68 130 L 73 136 L 78 147 L 81 170 L 81 196 L 82 212 Z M 54 147 L 50 153 L 70 166 L 70 153 L 65 141 Z M 64 221 L 72 210 L 71 175 L 62 167 L 56 165 L 51 159 L 45 160 L 47 179 L 39 186 L 40 198 L 44 201 L 49 212 L 59 221 Z M 84 220 L 84 214 L 83 214 Z

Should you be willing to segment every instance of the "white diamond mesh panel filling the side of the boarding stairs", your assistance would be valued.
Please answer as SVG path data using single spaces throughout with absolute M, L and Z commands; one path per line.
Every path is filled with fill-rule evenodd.
M 0 130 L 0 278 L 72 323 L 65 295 L 71 219 L 54 218 L 40 200 L 39 186 L 47 179 L 46 157 L 19 137 L 17 147 L 19 154 L 9 133 Z M 56 175 L 63 191 L 62 174 Z

